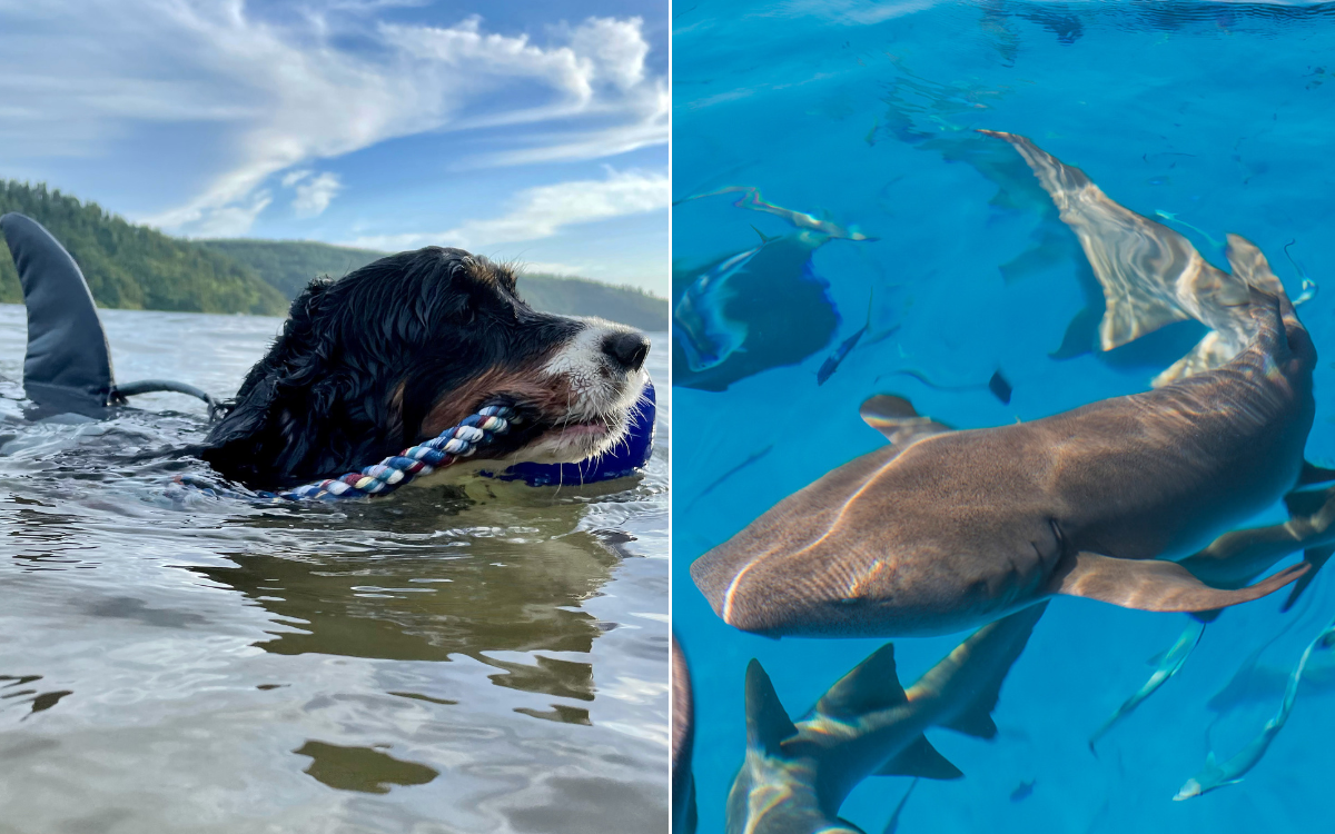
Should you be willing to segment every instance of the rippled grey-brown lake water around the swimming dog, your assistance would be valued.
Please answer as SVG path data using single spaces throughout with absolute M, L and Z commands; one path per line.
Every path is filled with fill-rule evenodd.
M 215 395 L 280 326 L 103 320 Z M 24 339 L 0 306 L 0 831 L 666 829 L 668 396 L 638 479 L 256 508 L 131 458 L 188 398 L 25 423 Z

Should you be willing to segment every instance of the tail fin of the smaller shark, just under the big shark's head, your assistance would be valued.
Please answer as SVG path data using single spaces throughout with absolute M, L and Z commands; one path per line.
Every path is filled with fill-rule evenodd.
M 996 737 L 992 710 L 1001 697 L 1001 685 L 1047 607 L 1048 603 L 1041 602 L 983 626 L 922 675 L 914 689 L 926 685 L 943 698 L 963 701 L 952 718 L 941 722 L 943 727 L 977 738 Z M 976 666 L 981 674 L 964 674 L 965 666 Z

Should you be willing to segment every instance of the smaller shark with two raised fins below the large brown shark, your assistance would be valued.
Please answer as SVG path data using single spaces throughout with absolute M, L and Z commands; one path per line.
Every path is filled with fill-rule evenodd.
M 888 643 L 796 723 L 765 670 L 752 661 L 746 759 L 728 795 L 728 834 L 861 834 L 838 818 L 838 809 L 866 777 L 960 778 L 922 733 L 947 727 L 996 737 L 991 713 L 1044 607 L 984 626 L 908 690 Z

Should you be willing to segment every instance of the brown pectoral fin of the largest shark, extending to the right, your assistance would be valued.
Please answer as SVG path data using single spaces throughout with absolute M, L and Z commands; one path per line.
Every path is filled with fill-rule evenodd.
M 1230 591 L 1210 587 L 1175 562 L 1112 559 L 1081 551 L 1061 560 L 1049 590 L 1141 611 L 1206 611 L 1260 599 L 1298 579 L 1308 567 L 1295 564 L 1256 584 Z

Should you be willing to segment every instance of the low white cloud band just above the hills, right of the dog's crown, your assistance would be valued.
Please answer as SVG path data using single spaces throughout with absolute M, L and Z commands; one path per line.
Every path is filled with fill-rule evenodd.
M 477 250 L 501 243 L 539 240 L 565 226 L 610 220 L 668 208 L 666 173 L 609 171 L 603 180 L 573 180 L 527 188 L 513 200 L 509 214 L 487 220 L 467 220 L 443 232 L 410 232 L 358 238 L 348 246 L 402 251 L 423 246 L 455 246 Z

